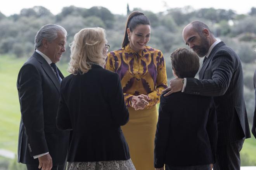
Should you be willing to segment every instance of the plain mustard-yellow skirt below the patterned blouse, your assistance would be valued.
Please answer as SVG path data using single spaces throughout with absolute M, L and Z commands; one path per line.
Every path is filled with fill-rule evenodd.
M 121 126 L 136 170 L 154 170 L 154 138 L 157 124 L 157 106 L 134 110 L 128 107 L 130 120 Z

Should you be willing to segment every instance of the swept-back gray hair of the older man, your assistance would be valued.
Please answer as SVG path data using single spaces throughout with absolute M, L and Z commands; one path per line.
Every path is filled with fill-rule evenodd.
M 62 26 L 47 24 L 40 28 L 35 36 L 35 49 L 38 49 L 42 45 L 44 38 L 47 39 L 47 41 L 52 42 L 58 37 L 58 32 L 63 32 L 65 36 L 67 36 L 67 31 Z

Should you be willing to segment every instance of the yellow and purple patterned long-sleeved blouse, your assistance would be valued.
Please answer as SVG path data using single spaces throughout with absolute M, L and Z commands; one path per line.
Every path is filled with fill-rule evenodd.
M 151 99 L 145 107 L 149 109 L 159 102 L 161 91 L 167 88 L 163 53 L 149 46 L 137 53 L 129 44 L 125 48 L 111 51 L 107 54 L 105 68 L 118 73 L 128 107 L 131 107 L 133 95 L 145 94 Z

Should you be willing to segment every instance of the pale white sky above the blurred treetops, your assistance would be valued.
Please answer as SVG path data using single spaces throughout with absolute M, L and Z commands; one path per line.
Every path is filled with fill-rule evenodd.
M 102 6 L 108 8 L 113 14 L 126 14 L 126 6 L 129 4 L 130 10 L 141 8 L 154 13 L 162 12 L 168 8 L 192 6 L 199 8 L 221 8 L 232 9 L 238 14 L 247 14 L 251 7 L 256 8 L 256 0 L 2 0 L 0 12 L 9 16 L 19 14 L 22 8 L 43 6 L 53 14 L 61 12 L 63 7 L 74 5 L 76 7 L 90 8 Z

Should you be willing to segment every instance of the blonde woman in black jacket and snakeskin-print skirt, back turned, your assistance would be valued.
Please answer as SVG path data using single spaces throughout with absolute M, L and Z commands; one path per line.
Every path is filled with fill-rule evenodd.
M 135 170 L 120 126 L 129 120 L 119 76 L 102 68 L 105 30 L 85 28 L 71 43 L 57 127 L 72 130 L 68 170 Z

